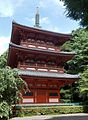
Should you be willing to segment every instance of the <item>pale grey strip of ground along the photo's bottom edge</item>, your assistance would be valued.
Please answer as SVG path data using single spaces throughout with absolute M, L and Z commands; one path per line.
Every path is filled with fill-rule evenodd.
M 42 115 L 32 117 L 16 117 L 11 120 L 88 120 L 88 114 Z

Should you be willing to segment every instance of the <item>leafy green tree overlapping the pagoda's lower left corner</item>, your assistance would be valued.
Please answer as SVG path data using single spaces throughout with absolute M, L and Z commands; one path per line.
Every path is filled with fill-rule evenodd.
M 19 101 L 21 90 L 26 88 L 26 83 L 18 76 L 18 72 L 10 67 L 0 69 L 0 116 L 8 115 L 3 113 L 3 105 L 11 110 L 12 104 Z M 4 103 L 4 104 L 3 104 Z

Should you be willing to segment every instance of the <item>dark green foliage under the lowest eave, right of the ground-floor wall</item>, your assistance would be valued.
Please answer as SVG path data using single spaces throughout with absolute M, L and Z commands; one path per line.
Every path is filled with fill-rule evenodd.
M 79 97 L 79 84 L 73 83 L 72 85 L 67 85 L 60 90 L 60 102 L 61 103 L 78 103 L 80 102 Z

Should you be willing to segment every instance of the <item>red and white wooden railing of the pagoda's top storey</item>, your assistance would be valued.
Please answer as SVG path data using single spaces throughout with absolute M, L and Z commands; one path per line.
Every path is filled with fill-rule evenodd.
M 24 47 L 29 47 L 29 48 L 39 48 L 39 49 L 44 49 L 44 50 L 51 50 L 51 51 L 60 51 L 59 47 L 56 47 L 54 45 L 47 45 L 47 44 L 40 44 L 40 43 L 32 43 L 32 42 L 23 42 L 21 41 L 20 45 Z

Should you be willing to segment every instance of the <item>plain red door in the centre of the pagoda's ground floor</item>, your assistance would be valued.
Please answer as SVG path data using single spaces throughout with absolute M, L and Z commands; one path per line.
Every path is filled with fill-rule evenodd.
M 47 92 L 46 90 L 37 90 L 36 91 L 36 102 L 37 103 L 46 103 L 47 102 Z

